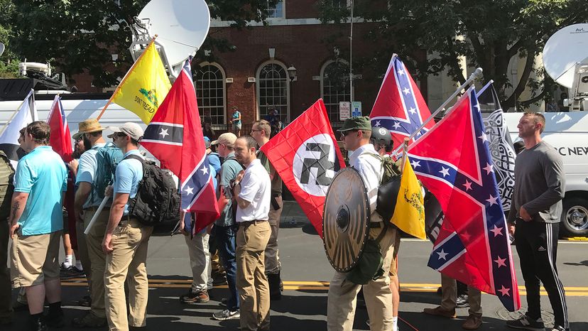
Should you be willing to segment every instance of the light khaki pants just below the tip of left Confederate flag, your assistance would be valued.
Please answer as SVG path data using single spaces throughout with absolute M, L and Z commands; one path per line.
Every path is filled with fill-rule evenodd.
M 192 292 L 207 290 L 210 273 L 210 252 L 208 251 L 209 234 L 199 232 L 192 236 L 184 236 L 190 255 L 190 267 L 192 268 Z

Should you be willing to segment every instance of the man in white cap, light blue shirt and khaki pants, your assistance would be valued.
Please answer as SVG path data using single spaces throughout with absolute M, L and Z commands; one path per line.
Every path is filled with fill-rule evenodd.
M 104 286 L 106 286 L 106 311 L 110 330 L 129 330 L 131 327 L 146 326 L 148 298 L 147 244 L 153 227 L 147 227 L 129 215 L 130 199 L 136 196 L 138 183 L 143 179 L 143 164 L 127 156 L 140 156 L 138 142 L 143 138 L 143 129 L 138 124 L 127 122 L 120 128 L 110 127 L 109 135 L 114 144 L 124 153 L 123 160 L 116 166 L 114 185 L 109 186 L 107 195 L 114 198 L 110 216 L 102 241 L 107 254 Z M 125 159 L 126 158 L 126 159 Z M 129 279 L 129 302 L 134 303 L 127 315 L 125 280 Z

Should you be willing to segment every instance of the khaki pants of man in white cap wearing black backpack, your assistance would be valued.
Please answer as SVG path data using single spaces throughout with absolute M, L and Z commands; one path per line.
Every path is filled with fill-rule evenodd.
M 147 281 L 147 244 L 153 227 L 142 227 L 136 219 L 116 227 L 107 254 L 104 286 L 109 330 L 129 330 L 146 326 L 149 284 Z M 129 288 L 127 317 L 124 281 Z

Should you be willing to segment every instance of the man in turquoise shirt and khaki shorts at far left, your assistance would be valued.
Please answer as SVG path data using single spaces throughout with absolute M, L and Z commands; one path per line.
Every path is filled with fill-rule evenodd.
M 9 219 L 13 287 L 26 289 L 31 330 L 63 325 L 58 257 L 67 169 L 47 146 L 49 136 L 49 125 L 43 121 L 26 126 L 23 144 L 31 152 L 16 168 Z M 43 317 L 45 298 L 49 314 Z

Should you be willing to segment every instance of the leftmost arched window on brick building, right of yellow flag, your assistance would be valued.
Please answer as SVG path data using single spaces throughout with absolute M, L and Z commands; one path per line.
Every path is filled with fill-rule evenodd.
M 224 71 L 216 63 L 201 63 L 194 82 L 200 115 L 209 114 L 217 129 L 227 123 L 224 104 Z

